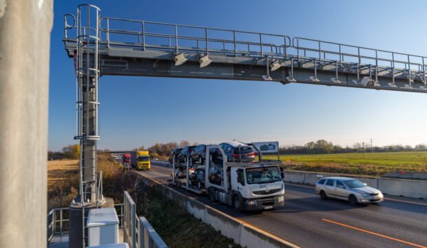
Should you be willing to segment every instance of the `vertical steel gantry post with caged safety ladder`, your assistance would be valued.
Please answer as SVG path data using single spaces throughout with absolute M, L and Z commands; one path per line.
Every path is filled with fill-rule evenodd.
M 80 141 L 81 201 L 97 201 L 96 141 L 98 135 L 98 78 L 100 10 L 94 5 L 77 8 L 76 136 Z

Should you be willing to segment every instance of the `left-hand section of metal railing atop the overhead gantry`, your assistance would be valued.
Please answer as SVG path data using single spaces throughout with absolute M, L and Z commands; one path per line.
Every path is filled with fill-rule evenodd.
M 114 26 L 127 26 L 127 30 L 116 29 Z M 267 55 L 283 54 L 286 56 L 287 47 L 291 46 L 291 38 L 280 34 L 267 34 L 238 30 L 226 30 L 193 25 L 178 25 L 103 17 L 100 21 L 101 35 L 105 34 L 107 47 L 124 45 L 110 36 L 127 38 L 126 45 L 145 49 L 169 47 L 171 51 L 220 53 L 220 54 L 250 54 Z M 151 30 L 164 30 L 153 32 Z

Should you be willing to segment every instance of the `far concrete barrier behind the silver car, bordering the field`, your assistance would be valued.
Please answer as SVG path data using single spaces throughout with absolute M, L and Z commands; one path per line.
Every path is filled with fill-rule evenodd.
M 316 181 L 322 177 L 352 177 L 368 184 L 368 186 L 371 186 L 372 188 L 381 190 L 384 194 L 389 194 L 391 196 L 405 196 L 417 199 L 427 199 L 427 181 L 298 170 L 284 171 L 284 181 L 291 183 L 315 185 Z

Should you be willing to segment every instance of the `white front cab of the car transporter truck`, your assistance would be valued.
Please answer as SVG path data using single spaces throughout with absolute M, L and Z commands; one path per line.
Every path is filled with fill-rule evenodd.
M 208 168 L 205 190 L 211 201 L 226 203 L 238 211 L 268 210 L 284 205 L 283 173 L 278 161 L 229 163 L 220 146 L 210 145 L 206 150 L 209 159 L 205 166 Z

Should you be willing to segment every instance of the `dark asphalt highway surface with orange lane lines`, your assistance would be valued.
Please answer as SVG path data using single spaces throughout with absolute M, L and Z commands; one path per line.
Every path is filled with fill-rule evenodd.
M 155 161 L 152 170 L 139 173 L 178 190 L 167 181 L 171 168 Z M 382 203 L 352 206 L 322 200 L 308 185 L 287 184 L 284 207 L 238 213 L 222 203 L 210 203 L 207 196 L 180 191 L 300 247 L 427 248 L 426 200 L 386 196 Z

